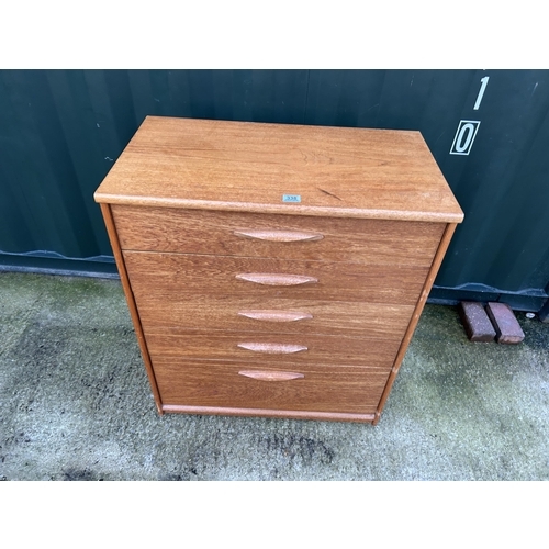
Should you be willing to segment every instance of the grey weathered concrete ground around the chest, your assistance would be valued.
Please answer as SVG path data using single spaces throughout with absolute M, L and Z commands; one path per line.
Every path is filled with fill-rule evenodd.
M 378 426 L 156 412 L 116 280 L 0 273 L 2 480 L 549 480 L 549 324 L 427 305 Z

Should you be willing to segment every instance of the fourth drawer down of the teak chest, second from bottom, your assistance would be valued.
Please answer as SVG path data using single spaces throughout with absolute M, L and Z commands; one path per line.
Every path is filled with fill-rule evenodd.
M 325 335 L 257 334 L 172 329 L 147 334 L 153 362 L 156 357 L 177 360 L 212 359 L 233 362 L 357 368 L 393 366 L 400 339 L 367 339 Z

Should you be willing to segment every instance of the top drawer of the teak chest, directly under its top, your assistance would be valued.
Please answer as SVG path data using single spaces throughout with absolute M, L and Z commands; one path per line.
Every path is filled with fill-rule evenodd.
M 430 266 L 444 223 L 112 205 L 122 249 Z

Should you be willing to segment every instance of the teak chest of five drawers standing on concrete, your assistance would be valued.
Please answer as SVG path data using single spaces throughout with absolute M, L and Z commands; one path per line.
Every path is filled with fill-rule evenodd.
M 94 199 L 160 413 L 376 424 L 463 219 L 418 132 L 154 116 Z

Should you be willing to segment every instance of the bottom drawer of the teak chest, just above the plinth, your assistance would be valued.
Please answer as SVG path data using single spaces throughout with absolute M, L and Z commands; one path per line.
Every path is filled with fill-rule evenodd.
M 154 363 L 160 396 L 168 406 L 372 414 L 389 376 L 377 369 L 357 372 L 354 368 L 318 367 L 303 373 L 296 365 L 268 368 L 214 360 L 157 358 Z M 249 377 L 256 374 L 262 378 Z M 302 377 L 292 379 L 290 374 Z

